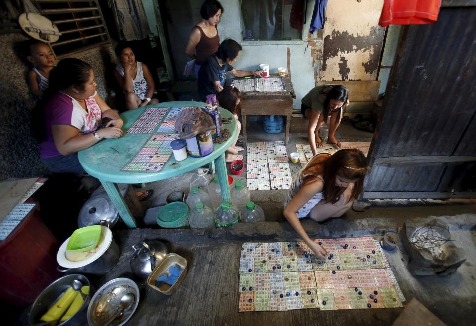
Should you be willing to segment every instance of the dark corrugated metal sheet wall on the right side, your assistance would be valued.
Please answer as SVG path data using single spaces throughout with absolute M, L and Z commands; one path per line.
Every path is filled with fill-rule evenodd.
M 434 24 L 406 29 L 372 146 L 374 158 L 476 156 L 474 26 L 476 7 L 452 7 L 441 8 Z M 464 182 L 475 180 L 474 164 L 371 167 L 365 191 L 475 188 Z

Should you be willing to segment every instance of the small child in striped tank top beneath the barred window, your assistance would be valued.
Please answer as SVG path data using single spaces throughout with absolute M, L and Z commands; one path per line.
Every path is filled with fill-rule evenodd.
M 27 60 L 33 64 L 33 69 L 28 72 L 30 89 L 34 95 L 42 96 L 48 88 L 50 72 L 55 65 L 55 55 L 48 44 L 28 40 L 26 43 Z

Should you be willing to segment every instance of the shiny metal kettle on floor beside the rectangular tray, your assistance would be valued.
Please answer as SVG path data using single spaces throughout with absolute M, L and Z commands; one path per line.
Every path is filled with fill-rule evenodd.
M 134 253 L 130 259 L 132 272 L 142 279 L 147 279 L 152 270 L 167 256 L 167 247 L 160 241 L 142 241 L 132 246 Z

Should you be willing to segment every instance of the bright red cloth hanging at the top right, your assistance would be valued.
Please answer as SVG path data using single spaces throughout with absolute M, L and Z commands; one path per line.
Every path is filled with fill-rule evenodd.
M 440 6 L 441 0 L 385 0 L 378 24 L 431 24 L 438 20 Z

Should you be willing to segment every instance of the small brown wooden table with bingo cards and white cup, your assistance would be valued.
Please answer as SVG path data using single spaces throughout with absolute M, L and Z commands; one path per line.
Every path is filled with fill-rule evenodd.
M 270 77 L 278 77 L 271 74 Z M 241 115 L 243 116 L 243 141 L 246 139 L 246 116 L 247 115 L 285 115 L 286 116 L 286 138 L 285 144 L 289 140 L 289 127 L 291 125 L 291 114 L 293 112 L 294 94 L 293 84 L 288 75 L 283 76 L 286 91 L 284 92 L 241 92 Z

